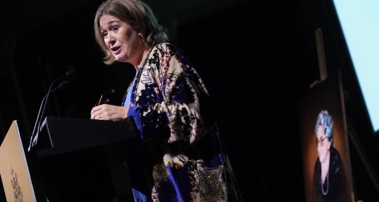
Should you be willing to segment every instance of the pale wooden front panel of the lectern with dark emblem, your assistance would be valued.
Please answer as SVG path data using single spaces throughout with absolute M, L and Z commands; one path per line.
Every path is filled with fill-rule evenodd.
M 7 201 L 36 201 L 17 121 L 0 146 L 0 174 Z

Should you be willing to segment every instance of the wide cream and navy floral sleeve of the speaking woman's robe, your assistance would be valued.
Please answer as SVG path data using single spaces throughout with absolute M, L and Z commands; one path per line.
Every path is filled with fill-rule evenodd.
M 163 138 L 167 142 L 197 142 L 209 130 L 210 116 L 205 106 L 208 92 L 198 73 L 174 45 L 163 43 L 154 47 L 147 71 L 152 81 L 154 105 L 140 105 L 141 133 L 144 138 Z M 145 90 L 149 88 L 145 85 Z M 143 95 L 144 93 L 141 93 Z M 145 96 L 146 97 L 146 96 Z M 144 99 L 139 96 L 139 99 Z

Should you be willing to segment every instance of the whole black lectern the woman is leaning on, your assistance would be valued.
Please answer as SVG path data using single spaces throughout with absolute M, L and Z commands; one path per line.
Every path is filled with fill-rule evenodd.
M 133 121 L 46 117 L 31 149 L 31 169 L 52 202 L 130 201 L 122 160 L 140 141 Z

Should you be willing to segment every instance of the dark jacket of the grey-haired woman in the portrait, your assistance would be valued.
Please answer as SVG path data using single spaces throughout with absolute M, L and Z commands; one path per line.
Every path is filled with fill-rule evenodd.
M 340 154 L 333 146 L 330 147 L 329 171 L 323 184 L 321 163 L 319 158 L 316 160 L 313 172 L 313 196 L 314 201 L 347 201 L 343 163 Z

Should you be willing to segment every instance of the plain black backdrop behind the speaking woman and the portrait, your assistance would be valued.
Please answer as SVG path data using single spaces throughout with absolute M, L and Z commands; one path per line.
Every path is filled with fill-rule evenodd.
M 93 37 L 102 1 L 0 3 L 0 138 L 18 120 L 24 147 L 50 83 L 75 82 L 50 99 L 50 116 L 89 118 L 102 92 L 120 105 L 135 74 L 106 66 Z M 202 76 L 245 201 L 303 201 L 298 104 L 319 79 L 315 29 L 323 31 L 329 74 L 341 68 L 346 114 L 374 171 L 378 136 L 369 122 L 330 0 L 146 1 Z M 0 139 L 0 140 L 1 140 Z M 350 142 L 355 199 L 379 194 Z M 376 178 L 377 179 L 377 178 Z M 0 192 L 0 201 L 3 195 Z

